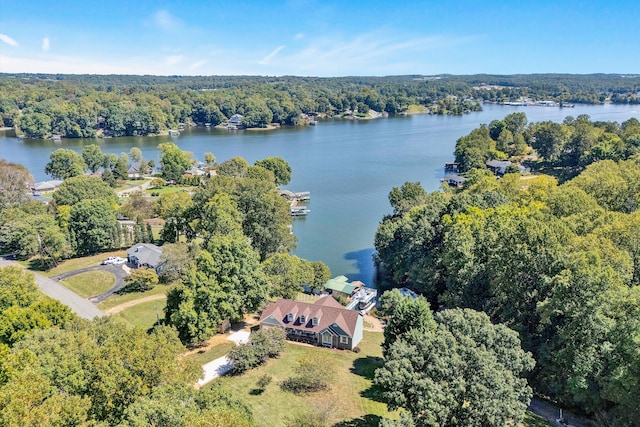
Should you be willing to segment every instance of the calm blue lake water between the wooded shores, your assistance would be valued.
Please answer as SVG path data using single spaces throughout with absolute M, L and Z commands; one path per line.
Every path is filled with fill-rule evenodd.
M 158 144 L 173 141 L 204 160 L 212 152 L 219 162 L 242 156 L 249 163 L 280 156 L 293 169 L 293 191 L 310 191 L 306 218 L 294 219 L 298 236 L 296 254 L 323 261 L 332 275 L 372 284 L 371 255 L 378 223 L 391 212 L 387 195 L 405 181 L 419 181 L 427 191 L 440 186 L 444 163 L 453 160 L 456 139 L 481 123 L 522 111 L 529 121 L 562 121 L 568 115 L 588 114 L 592 120 L 622 122 L 640 119 L 640 106 L 576 105 L 508 107 L 485 105 L 464 116 L 413 115 L 370 121 L 321 121 L 318 126 L 274 131 L 226 131 L 194 128 L 178 137 L 125 137 L 113 139 L 63 139 L 19 141 L 13 131 L 0 133 L 0 158 L 21 163 L 36 181 L 50 179 L 44 166 L 60 147 L 78 151 L 98 142 L 104 152 L 128 152 L 139 147 L 146 159 L 158 163 Z

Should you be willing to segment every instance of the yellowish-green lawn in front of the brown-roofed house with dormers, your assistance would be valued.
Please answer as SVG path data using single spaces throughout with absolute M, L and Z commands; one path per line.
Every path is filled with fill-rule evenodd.
M 251 407 L 259 426 L 282 426 L 295 413 L 318 411 L 330 414 L 331 424 L 377 426 L 381 417 L 398 417 L 376 400 L 379 391 L 372 388 L 374 371 L 382 363 L 382 341 L 382 333 L 365 332 L 359 345 L 360 353 L 287 343 L 278 359 L 269 360 L 243 375 L 225 376 L 216 381 Z M 329 390 L 295 395 L 280 389 L 280 383 L 294 374 L 293 370 L 302 358 L 318 353 L 323 353 L 335 372 Z M 263 393 L 258 394 L 256 382 L 263 375 L 270 375 L 273 380 Z

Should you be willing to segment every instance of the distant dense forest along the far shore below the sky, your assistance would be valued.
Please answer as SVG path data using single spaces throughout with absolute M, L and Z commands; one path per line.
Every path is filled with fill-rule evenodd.
M 413 105 L 463 114 L 480 101 L 638 103 L 640 77 L 621 75 L 242 77 L 0 75 L 0 126 L 30 138 L 149 135 L 180 123 L 297 125 L 305 115 L 397 114 Z

